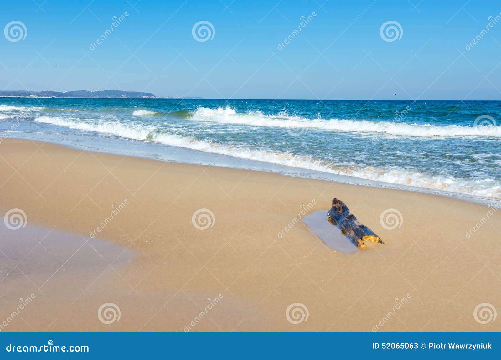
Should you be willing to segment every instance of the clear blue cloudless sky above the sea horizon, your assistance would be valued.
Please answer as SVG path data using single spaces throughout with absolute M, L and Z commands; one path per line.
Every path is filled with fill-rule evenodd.
M 501 100 L 499 1 L 136 2 L 3 2 L 0 88 Z M 13 21 L 26 32 L 5 28 Z M 213 28 L 208 39 L 193 36 L 200 21 Z M 380 32 L 388 21 L 398 23 L 396 39 Z

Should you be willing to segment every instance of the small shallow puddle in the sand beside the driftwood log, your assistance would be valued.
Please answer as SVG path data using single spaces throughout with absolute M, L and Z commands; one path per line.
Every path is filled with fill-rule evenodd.
M 341 233 L 341 229 L 326 220 L 328 210 L 315 211 L 301 219 L 310 231 L 320 237 L 329 247 L 341 252 L 355 252 L 357 247 Z

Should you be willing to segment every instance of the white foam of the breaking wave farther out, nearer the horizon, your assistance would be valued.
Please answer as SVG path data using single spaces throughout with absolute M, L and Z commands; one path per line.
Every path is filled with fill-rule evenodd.
M 319 129 L 343 132 L 373 132 L 394 136 L 484 136 L 501 138 L 501 126 L 476 126 L 467 127 L 459 125 L 435 126 L 421 124 L 406 124 L 398 122 L 374 122 L 367 120 L 347 119 L 305 119 L 301 116 L 289 116 L 287 113 L 278 115 L 264 115 L 259 111 L 237 113 L 226 106 L 215 109 L 198 107 L 192 114 L 191 119 L 196 121 L 215 122 L 221 124 L 238 124 L 249 126 Z

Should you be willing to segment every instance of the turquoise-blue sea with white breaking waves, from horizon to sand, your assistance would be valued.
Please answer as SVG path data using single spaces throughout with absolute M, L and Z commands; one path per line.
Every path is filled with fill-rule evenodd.
M 2 136 L 501 199 L 501 102 L 0 98 Z

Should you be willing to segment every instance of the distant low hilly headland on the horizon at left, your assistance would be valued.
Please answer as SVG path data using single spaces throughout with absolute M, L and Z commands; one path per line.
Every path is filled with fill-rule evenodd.
M 137 91 L 103 90 L 103 91 L 28 91 L 28 90 L 4 90 L 0 91 L 0 97 L 44 97 L 44 98 L 127 98 L 127 99 L 155 99 L 151 93 Z

